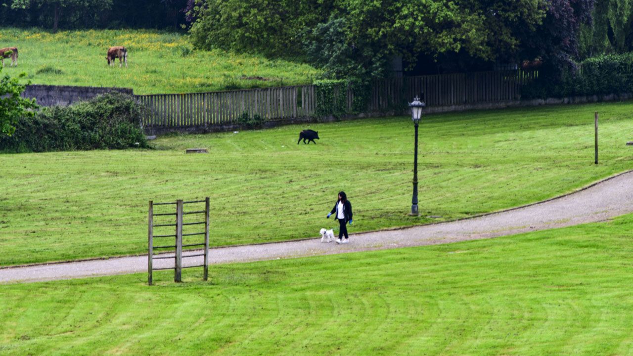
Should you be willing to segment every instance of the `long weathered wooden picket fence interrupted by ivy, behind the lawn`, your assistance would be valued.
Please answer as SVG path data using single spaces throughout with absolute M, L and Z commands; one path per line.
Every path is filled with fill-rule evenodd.
M 427 106 L 453 106 L 520 98 L 520 87 L 537 72 L 520 70 L 425 75 L 379 80 L 373 84 L 367 113 L 406 107 L 415 96 Z M 348 89 L 348 111 L 354 93 Z M 239 123 L 242 115 L 266 121 L 314 117 L 320 98 L 315 86 L 273 87 L 191 94 L 140 95 L 144 127 L 212 127 Z

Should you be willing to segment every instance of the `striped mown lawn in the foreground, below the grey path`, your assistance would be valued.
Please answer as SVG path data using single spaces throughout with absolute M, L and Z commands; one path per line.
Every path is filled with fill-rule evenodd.
M 0 355 L 629 355 L 632 228 L 0 286 Z

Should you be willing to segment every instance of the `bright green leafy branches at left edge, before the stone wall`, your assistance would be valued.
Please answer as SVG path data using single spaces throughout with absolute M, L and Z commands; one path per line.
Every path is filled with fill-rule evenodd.
M 2 68 L 0 67 L 0 72 Z M 22 73 L 18 78 L 24 77 Z M 15 124 L 21 117 L 33 116 L 37 105 L 34 99 L 20 96 L 25 89 L 18 78 L 8 75 L 0 77 L 0 135 L 11 135 L 15 131 Z

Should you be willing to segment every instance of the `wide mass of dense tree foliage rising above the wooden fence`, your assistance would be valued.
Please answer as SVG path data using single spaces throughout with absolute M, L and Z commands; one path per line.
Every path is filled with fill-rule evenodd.
M 615 1 L 615 0 L 614 0 Z M 572 65 L 593 0 L 191 0 L 198 48 L 305 56 L 332 77 L 384 75 L 394 56 Z

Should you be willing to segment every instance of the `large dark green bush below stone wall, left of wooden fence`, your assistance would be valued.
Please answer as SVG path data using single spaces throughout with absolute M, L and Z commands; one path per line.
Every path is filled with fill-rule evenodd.
M 141 106 L 130 96 L 110 93 L 71 106 L 44 108 L 16 123 L 13 136 L 0 137 L 0 150 L 72 151 L 147 147 Z

